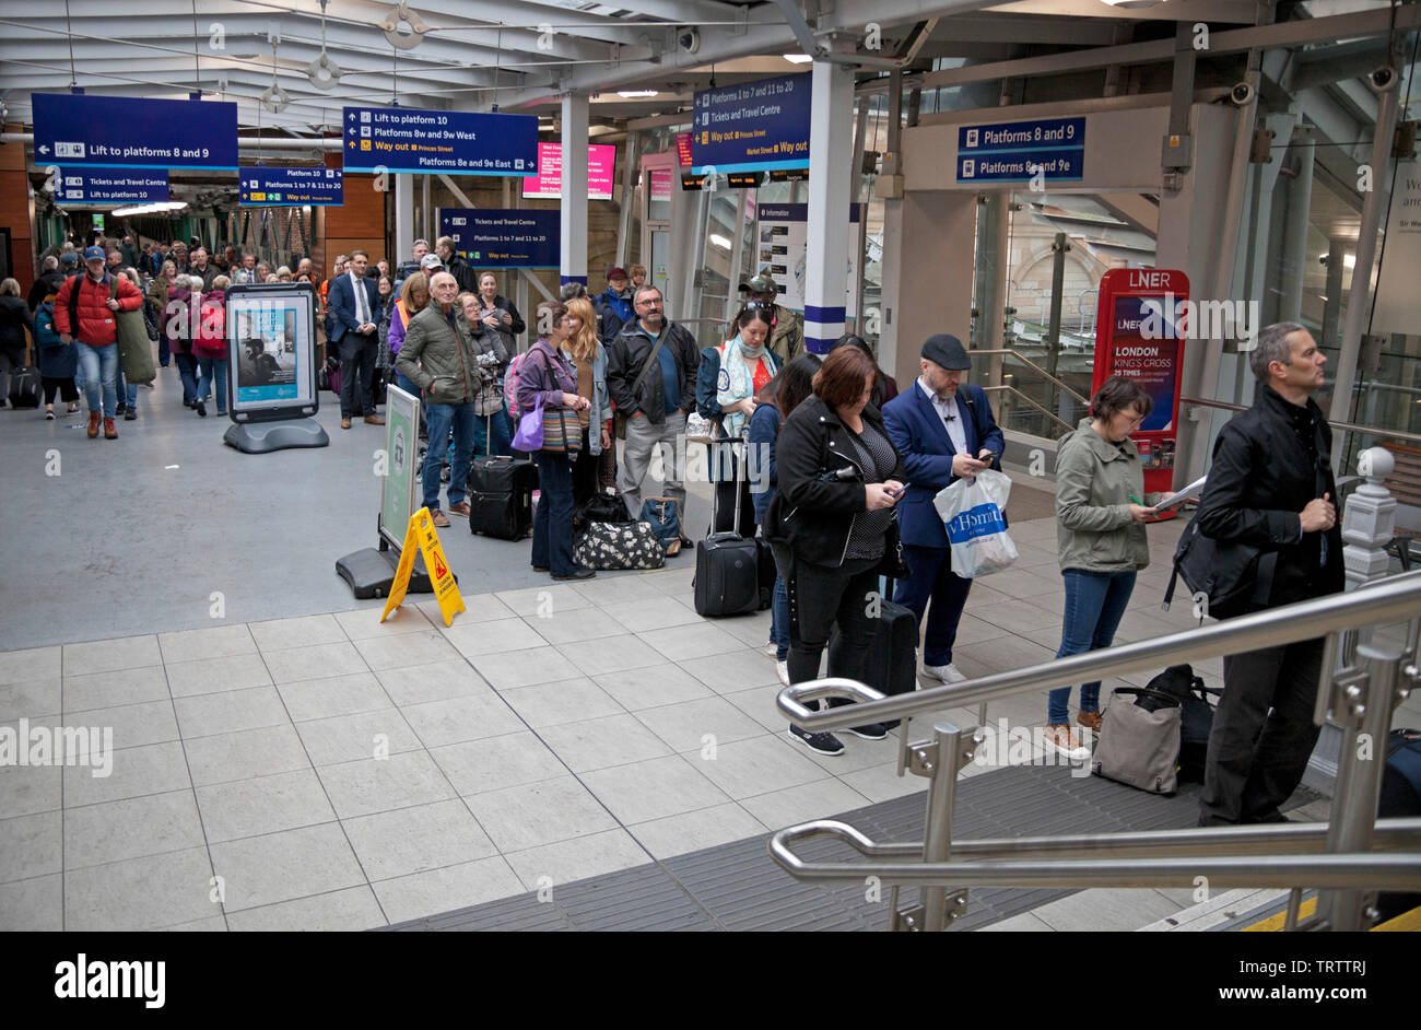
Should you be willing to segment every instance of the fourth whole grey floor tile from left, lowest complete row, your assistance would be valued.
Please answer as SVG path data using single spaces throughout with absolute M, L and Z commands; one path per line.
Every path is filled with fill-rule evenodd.
M 465 803 L 504 854 L 617 825 L 607 808 L 571 776 L 473 794 Z

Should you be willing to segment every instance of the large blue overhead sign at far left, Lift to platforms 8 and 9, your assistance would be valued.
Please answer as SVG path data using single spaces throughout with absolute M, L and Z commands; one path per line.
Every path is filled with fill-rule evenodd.
M 34 163 L 61 168 L 237 166 L 237 105 L 31 94 Z

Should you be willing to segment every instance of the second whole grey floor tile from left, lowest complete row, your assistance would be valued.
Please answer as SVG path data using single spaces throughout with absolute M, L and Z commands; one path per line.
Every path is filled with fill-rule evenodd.
M 229 916 L 365 884 L 355 852 L 334 823 L 213 844 L 212 864 L 225 884 Z

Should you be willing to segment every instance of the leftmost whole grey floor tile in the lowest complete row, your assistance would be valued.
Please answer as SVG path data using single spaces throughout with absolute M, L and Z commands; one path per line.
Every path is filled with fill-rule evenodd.
M 67 869 L 64 929 L 146 931 L 220 915 L 206 848 Z

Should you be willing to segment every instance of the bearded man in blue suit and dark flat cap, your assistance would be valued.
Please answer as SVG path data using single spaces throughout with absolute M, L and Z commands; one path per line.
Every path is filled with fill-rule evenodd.
M 919 627 L 928 611 L 924 679 L 955 683 L 966 679 L 952 665 L 952 644 L 972 580 L 952 571 L 948 533 L 932 499 L 958 479 L 999 466 L 1005 440 L 986 394 L 962 382 L 972 361 L 961 340 L 946 332 L 928 337 L 919 365 L 917 385 L 885 403 L 882 412 L 909 482 L 898 502 L 898 528 L 912 575 L 898 584 L 894 600 L 912 609 Z

